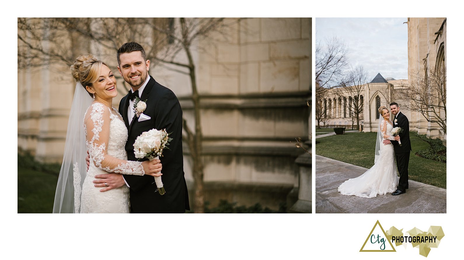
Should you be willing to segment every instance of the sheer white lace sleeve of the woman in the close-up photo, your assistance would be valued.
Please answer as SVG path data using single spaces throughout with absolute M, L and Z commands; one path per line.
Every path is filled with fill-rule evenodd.
M 90 113 L 89 113 L 90 111 Z M 107 154 L 110 138 L 110 109 L 101 103 L 92 104 L 84 118 L 90 161 L 110 173 L 144 175 L 141 161 L 126 161 Z

